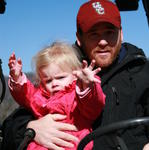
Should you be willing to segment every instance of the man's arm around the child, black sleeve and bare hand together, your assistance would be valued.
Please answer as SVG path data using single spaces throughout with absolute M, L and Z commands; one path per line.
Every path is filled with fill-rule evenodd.
M 31 113 L 24 108 L 17 109 L 3 123 L 2 150 L 16 150 L 27 128 L 35 130 L 35 142 L 46 148 L 64 150 L 62 147 L 73 147 L 72 142 L 78 143 L 78 139 L 65 131 L 77 131 L 77 128 L 74 125 L 59 122 L 65 117 L 59 114 L 48 114 L 34 120 Z

